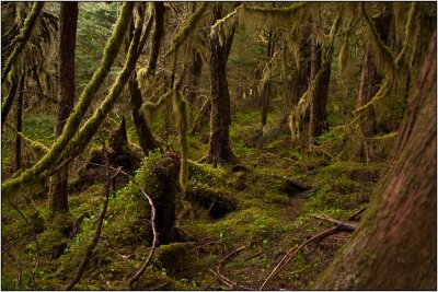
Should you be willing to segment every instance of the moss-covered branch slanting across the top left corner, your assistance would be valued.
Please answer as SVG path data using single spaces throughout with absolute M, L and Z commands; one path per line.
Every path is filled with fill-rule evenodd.
M 26 45 L 28 38 L 31 37 L 32 31 L 34 30 L 36 20 L 38 19 L 38 15 L 41 11 L 43 10 L 44 2 L 35 2 L 31 13 L 27 15 L 26 20 L 24 21 L 24 26 L 20 32 L 20 35 L 15 38 L 15 40 L 19 43 L 14 50 L 12 51 L 11 56 L 7 60 L 7 65 L 4 66 L 2 75 L 1 75 L 1 84 L 3 84 L 7 75 L 9 74 L 9 71 L 12 68 L 12 65 L 15 63 L 16 58 L 20 56 L 20 54 L 23 51 L 24 46 Z

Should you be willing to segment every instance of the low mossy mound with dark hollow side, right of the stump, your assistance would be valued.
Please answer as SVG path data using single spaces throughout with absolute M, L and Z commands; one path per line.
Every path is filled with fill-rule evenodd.
M 215 219 L 222 218 L 238 209 L 238 200 L 231 191 L 224 188 L 212 188 L 205 184 L 189 184 L 186 195 L 187 199 L 199 202 Z

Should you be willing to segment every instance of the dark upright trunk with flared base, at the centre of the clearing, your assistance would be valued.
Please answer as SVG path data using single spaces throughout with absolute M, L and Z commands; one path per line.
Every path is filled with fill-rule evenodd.
M 215 3 L 211 23 L 216 23 L 221 17 L 222 4 Z M 220 44 L 218 35 L 210 37 L 210 147 L 203 161 L 214 165 L 233 161 L 235 157 L 230 148 L 229 126 L 231 124 L 231 115 L 227 81 L 227 59 L 230 54 L 233 35 L 234 30 L 230 36 L 226 37 L 223 44 Z

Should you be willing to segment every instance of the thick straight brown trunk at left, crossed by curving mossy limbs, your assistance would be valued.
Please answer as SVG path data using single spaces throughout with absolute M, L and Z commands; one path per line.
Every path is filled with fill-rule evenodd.
M 59 86 L 58 86 L 58 118 L 56 138 L 64 130 L 74 103 L 74 51 L 78 24 L 78 2 L 62 2 L 60 8 L 59 30 Z M 49 210 L 53 213 L 68 212 L 68 165 L 51 178 L 49 191 Z

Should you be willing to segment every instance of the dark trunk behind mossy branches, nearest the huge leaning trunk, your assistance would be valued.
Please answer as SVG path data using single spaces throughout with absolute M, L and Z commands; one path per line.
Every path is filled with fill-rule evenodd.
M 374 19 L 376 30 L 384 44 L 388 44 L 391 21 L 392 14 L 389 13 L 388 5 L 385 5 L 383 13 Z M 367 50 L 364 57 L 357 107 L 361 107 L 371 101 L 379 91 L 381 81 L 382 75 L 377 71 L 374 54 L 371 50 Z M 365 137 L 372 137 L 376 133 L 376 113 L 372 106 L 367 112 L 366 120 L 360 122 L 360 130 Z

